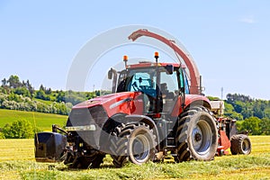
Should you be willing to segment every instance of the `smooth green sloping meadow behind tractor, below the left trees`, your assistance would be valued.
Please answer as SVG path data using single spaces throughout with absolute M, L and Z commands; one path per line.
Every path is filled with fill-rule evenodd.
M 51 130 L 51 124 L 58 124 L 60 126 L 66 124 L 67 116 L 0 109 L 0 127 L 4 127 L 6 123 L 11 124 L 16 120 L 28 120 L 31 122 L 32 127 L 37 127 L 40 130 Z

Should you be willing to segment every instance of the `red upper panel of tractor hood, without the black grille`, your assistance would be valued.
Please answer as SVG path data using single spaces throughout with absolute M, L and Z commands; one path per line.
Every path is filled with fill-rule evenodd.
M 83 103 L 76 104 L 72 109 L 92 109 L 94 106 L 102 106 L 108 117 L 112 117 L 116 113 L 131 114 L 140 111 L 142 102 L 139 102 L 137 97 L 139 92 L 123 92 L 116 94 L 107 94 L 100 97 L 95 97 Z M 142 110 L 141 110 L 142 111 Z

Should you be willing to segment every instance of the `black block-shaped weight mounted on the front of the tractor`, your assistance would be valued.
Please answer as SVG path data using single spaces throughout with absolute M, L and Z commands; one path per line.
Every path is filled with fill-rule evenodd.
M 35 134 L 35 158 L 37 162 L 60 162 L 65 160 L 67 137 L 57 132 Z

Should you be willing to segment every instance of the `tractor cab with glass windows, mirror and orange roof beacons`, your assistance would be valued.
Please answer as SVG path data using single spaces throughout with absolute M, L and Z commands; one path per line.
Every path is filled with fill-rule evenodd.
M 158 58 L 157 52 L 155 58 Z M 127 56 L 123 60 L 125 69 L 117 72 L 111 68 L 108 72 L 109 79 L 112 79 L 112 93 L 140 92 L 144 114 L 172 112 L 178 97 L 189 94 L 184 66 L 157 61 L 128 65 Z

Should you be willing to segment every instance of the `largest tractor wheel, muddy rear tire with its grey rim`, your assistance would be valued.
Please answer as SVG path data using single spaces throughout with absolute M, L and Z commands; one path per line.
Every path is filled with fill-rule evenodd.
M 218 148 L 216 120 L 203 107 L 184 112 L 176 130 L 176 162 L 212 160 Z

